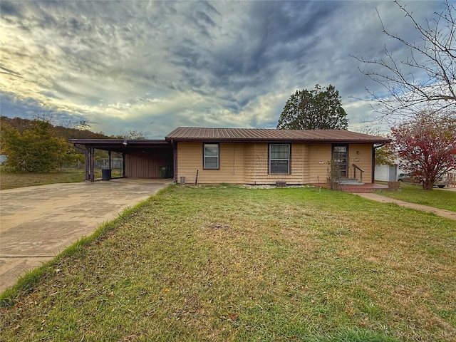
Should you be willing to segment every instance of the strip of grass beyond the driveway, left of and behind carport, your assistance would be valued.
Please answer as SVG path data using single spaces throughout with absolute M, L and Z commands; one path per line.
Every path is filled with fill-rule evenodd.
M 0 167 L 0 190 L 31 187 L 33 185 L 84 182 L 85 172 L 85 170 L 81 169 L 69 169 L 46 173 L 10 173 L 5 172 L 4 167 Z M 118 170 L 113 170 L 113 177 L 116 176 L 119 176 Z M 101 178 L 101 170 L 95 171 L 95 178 Z

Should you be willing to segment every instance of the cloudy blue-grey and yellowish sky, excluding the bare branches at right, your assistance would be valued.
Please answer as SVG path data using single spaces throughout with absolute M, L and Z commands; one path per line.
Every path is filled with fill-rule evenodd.
M 401 1 L 424 22 L 442 1 Z M 357 130 L 381 89 L 350 55 L 382 33 L 418 41 L 393 1 L 0 1 L 1 115 L 53 113 L 108 135 L 177 126 L 275 128 L 291 93 L 336 87 Z

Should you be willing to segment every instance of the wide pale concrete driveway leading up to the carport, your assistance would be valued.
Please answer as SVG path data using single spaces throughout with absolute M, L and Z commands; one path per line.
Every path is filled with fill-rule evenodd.
M 172 180 L 41 185 L 0 191 L 0 292 Z

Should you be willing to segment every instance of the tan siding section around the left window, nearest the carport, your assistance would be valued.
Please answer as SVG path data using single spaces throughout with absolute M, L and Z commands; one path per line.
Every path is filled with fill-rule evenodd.
M 219 170 L 204 170 L 202 158 L 202 142 L 179 142 L 177 145 L 177 180 L 185 177 L 186 183 L 194 184 L 198 171 L 198 183 L 201 184 L 244 183 L 244 144 L 220 142 Z

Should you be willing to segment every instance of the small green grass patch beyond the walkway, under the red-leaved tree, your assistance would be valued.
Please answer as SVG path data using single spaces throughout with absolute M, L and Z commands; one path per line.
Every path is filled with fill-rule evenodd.
M 456 212 L 456 192 L 433 189 L 423 190 L 420 185 L 401 184 L 400 191 L 380 192 L 390 198 L 405 202 L 428 205 L 430 207 L 447 209 Z

